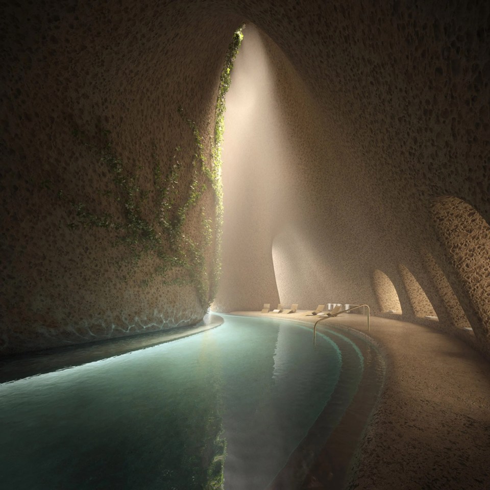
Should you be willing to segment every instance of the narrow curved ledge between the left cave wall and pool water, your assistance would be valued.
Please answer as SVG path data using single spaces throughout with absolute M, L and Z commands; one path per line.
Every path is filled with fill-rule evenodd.
M 87 342 L 81 345 L 57 347 L 2 357 L 0 358 L 0 384 L 165 344 L 166 342 L 211 330 L 222 325 L 224 321 L 222 316 L 216 313 L 208 313 L 201 322 L 187 327 L 177 327 L 169 330 L 140 333 L 126 337 Z

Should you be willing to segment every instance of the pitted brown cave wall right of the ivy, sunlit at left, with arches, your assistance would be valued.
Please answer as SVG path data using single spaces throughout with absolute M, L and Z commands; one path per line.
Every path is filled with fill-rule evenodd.
M 232 225 L 225 220 L 225 275 L 216 303 L 225 311 L 257 310 L 278 296 L 305 309 L 368 303 L 375 314 L 450 331 L 488 354 L 482 313 L 490 263 L 483 226 L 490 209 L 488 7 L 351 2 L 283 8 L 283 16 L 276 12 L 280 21 L 253 18 L 255 26 L 246 28 L 227 99 L 225 212 L 240 231 L 227 233 Z M 261 68 L 246 61 L 249 46 L 257 51 L 254 43 L 267 53 L 263 63 L 275 89 L 261 85 Z M 236 102 L 245 96 L 241 85 L 263 97 L 246 117 Z M 257 170 L 235 151 L 235 141 L 262 155 Z M 240 179 L 233 180 L 236 169 Z M 258 198 L 261 219 L 233 187 L 257 181 L 281 195 L 268 206 Z M 441 225 L 434 203 L 444 196 L 467 208 Z M 467 240 L 455 238 L 451 228 L 475 213 L 483 224 L 471 233 L 461 228 Z M 233 254 L 250 234 L 261 236 L 260 244 L 251 242 L 262 261 Z M 464 260 L 454 259 L 454 241 Z M 278 292 L 271 287 L 264 294 L 257 278 L 272 276 L 277 260 L 271 263 L 270 253 L 282 257 Z M 383 312 L 376 271 L 393 282 L 403 314 Z M 434 313 L 438 321 L 426 318 Z

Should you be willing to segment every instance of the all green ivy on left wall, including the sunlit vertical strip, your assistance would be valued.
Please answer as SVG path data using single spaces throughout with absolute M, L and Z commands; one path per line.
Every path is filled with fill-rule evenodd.
M 134 270 L 143 258 L 150 258 L 151 272 L 140 286 L 148 286 L 154 280 L 166 285 L 192 284 L 204 310 L 214 299 L 220 273 L 223 220 L 221 144 L 225 95 L 242 38 L 240 28 L 234 33 L 226 53 L 216 101 L 214 132 L 210 135 L 209 162 L 204 154 L 204 138 L 197 124 L 185 115 L 182 108 L 178 108 L 178 112 L 191 130 L 194 141 L 190 163 L 182 160 L 182 149 L 177 146 L 170 165 L 162 165 L 157 158 L 157 144 L 153 143 L 151 161 L 140 164 L 134 171 L 117 156 L 110 131 L 96 128 L 94 134 L 88 135 L 77 129 L 74 136 L 108 170 L 112 185 L 102 194 L 108 200 L 106 208 L 114 212 L 93 211 L 89 204 L 76 200 L 63 190 L 57 194 L 58 199 L 74 212 L 74 218 L 67 224 L 69 228 L 104 228 L 111 232 L 113 246 L 125 251 L 125 260 L 116 264 L 119 269 L 129 267 L 130 271 Z M 145 181 L 143 185 L 140 173 L 148 167 L 152 182 Z M 208 188 L 214 195 L 212 217 L 203 200 Z M 185 226 L 190 215 L 193 216 L 192 234 Z M 199 217 L 199 230 L 195 229 L 196 216 Z M 212 256 L 212 263 L 208 263 L 208 256 Z M 123 277 L 128 281 L 131 274 Z

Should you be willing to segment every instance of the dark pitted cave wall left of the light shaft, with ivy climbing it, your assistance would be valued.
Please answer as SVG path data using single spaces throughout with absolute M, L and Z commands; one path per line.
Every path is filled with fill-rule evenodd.
M 0 352 L 199 322 L 207 304 L 194 276 L 212 276 L 213 191 L 198 168 L 207 189 L 174 230 L 160 223 L 159 194 L 170 187 L 175 224 L 199 152 L 187 119 L 209 165 L 219 78 L 239 19 L 175 2 L 6 9 Z M 108 215 L 122 228 L 107 226 Z M 153 232 L 167 243 L 155 248 Z

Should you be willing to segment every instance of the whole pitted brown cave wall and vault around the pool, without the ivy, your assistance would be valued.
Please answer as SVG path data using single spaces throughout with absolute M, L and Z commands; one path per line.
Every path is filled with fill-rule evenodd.
M 140 287 L 144 264 L 136 279 L 122 281 L 114 266 L 120 257 L 105 230 L 67 229 L 69 213 L 54 196 L 61 188 L 105 210 L 108 176 L 74 142 L 74 127 L 110 129 L 117 155 L 135 168 L 142 164 L 142 176 L 154 141 L 167 165 L 180 146 L 188 168 L 194 143 L 177 107 L 209 134 L 226 48 L 246 20 L 256 27 L 249 44 L 255 37 L 262 45 L 267 93 L 280 124 L 267 133 L 268 147 L 262 139 L 244 149 L 260 157 L 255 163 L 268 164 L 259 174 L 242 167 L 241 186 L 259 187 L 231 200 L 225 211 L 236 223 L 225 222 L 218 308 L 258 309 L 278 300 L 273 243 L 279 237 L 283 256 L 290 256 L 292 237 L 301 237 L 315 255 L 298 256 L 296 263 L 314 265 L 291 268 L 282 286 L 291 301 L 304 307 L 376 304 L 372 277 L 379 269 L 393 281 L 406 319 L 416 320 L 398 269 L 404 264 L 439 327 L 450 329 L 453 320 L 434 279 L 439 272 L 420 253 L 425 247 L 479 345 L 490 352 L 488 288 L 469 279 L 451 255 L 453 245 L 447 247 L 448 220 L 436 217 L 436 233 L 432 214 L 434 199 L 454 196 L 490 220 L 489 15 L 483 1 L 4 5 L 4 349 L 100 338 L 112 335 L 112 325 L 124 333 L 138 322 L 160 328 L 171 326 L 171 318 L 182 324 L 202 316 L 190 286 Z M 246 55 L 247 31 L 242 50 L 252 56 Z M 248 117 L 265 117 L 257 111 Z M 225 153 L 234 138 L 229 128 Z M 208 140 L 205 147 L 208 152 Z M 241 154 L 233 159 L 235 168 L 247 161 Z M 263 202 L 270 207 L 261 209 Z M 472 238 L 461 243 L 472 255 Z M 488 245 L 481 246 L 488 255 Z M 304 295 L 305 284 L 317 296 Z

